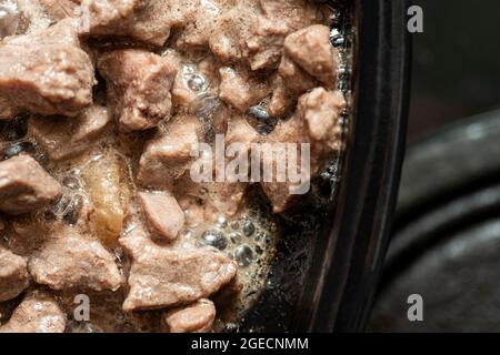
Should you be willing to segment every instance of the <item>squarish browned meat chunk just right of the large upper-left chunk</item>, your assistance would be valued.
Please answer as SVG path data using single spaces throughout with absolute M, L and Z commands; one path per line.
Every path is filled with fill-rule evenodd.
M 104 53 L 98 68 L 108 84 L 108 105 L 122 131 L 141 131 L 170 118 L 178 63 L 142 50 Z

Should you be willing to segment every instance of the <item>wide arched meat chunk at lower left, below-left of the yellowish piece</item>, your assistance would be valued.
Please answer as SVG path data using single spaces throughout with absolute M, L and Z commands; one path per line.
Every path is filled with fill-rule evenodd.
M 37 283 L 53 290 L 116 291 L 123 282 L 113 256 L 98 241 L 73 231 L 47 241 L 29 260 L 28 271 Z

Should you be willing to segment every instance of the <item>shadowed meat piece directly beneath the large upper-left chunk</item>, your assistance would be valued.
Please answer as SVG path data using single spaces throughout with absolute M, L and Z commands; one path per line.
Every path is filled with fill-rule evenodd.
M 77 118 L 31 118 L 29 134 L 53 161 L 77 156 L 88 150 L 110 122 L 108 110 L 90 106 Z

